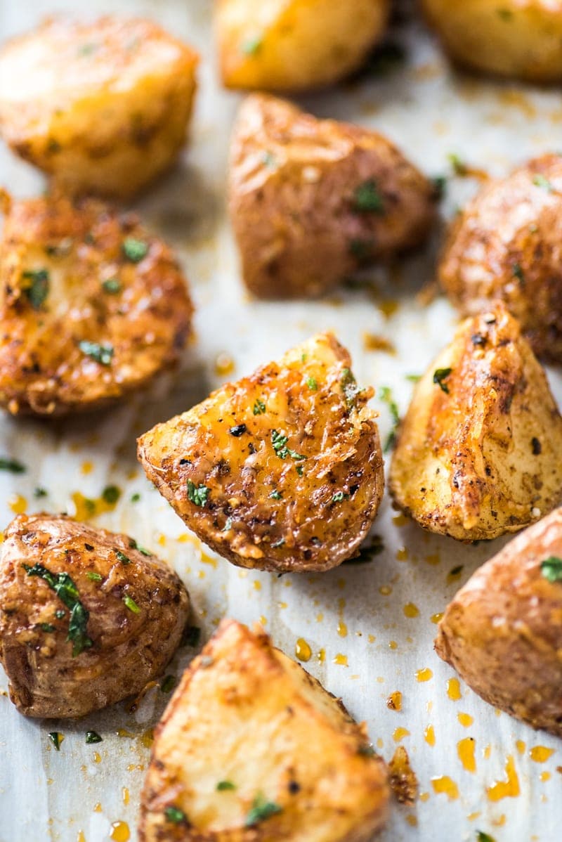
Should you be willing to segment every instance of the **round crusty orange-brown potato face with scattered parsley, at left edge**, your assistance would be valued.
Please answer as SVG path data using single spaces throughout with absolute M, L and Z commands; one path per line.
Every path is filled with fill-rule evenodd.
M 178 360 L 192 306 L 170 249 L 98 200 L 5 200 L 0 405 L 56 415 L 122 397 Z

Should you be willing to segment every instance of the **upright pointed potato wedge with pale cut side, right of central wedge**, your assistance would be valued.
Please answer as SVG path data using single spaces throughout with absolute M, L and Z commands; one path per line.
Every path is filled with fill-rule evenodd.
M 390 493 L 432 532 L 475 541 L 516 532 L 562 500 L 562 418 L 517 321 L 469 318 L 416 386 Z

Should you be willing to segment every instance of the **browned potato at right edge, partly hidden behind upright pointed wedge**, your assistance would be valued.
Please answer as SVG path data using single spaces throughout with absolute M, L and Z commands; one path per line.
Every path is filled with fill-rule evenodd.
M 439 280 L 465 315 L 499 299 L 535 354 L 562 362 L 562 157 L 487 184 L 453 223 Z

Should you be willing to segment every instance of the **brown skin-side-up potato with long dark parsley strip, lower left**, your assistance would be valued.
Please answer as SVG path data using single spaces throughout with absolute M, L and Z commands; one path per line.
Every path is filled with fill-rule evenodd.
M 29 576 L 24 564 L 35 563 L 68 573 L 89 612 L 93 646 L 74 658 L 66 639 L 70 611 L 44 578 Z M 62 516 L 19 514 L 5 532 L 0 565 L 0 660 L 10 697 L 27 717 L 82 717 L 139 693 L 179 645 L 188 594 L 175 573 L 131 547 L 128 536 Z M 138 613 L 126 607 L 127 595 Z M 57 610 L 65 616 L 57 618 Z

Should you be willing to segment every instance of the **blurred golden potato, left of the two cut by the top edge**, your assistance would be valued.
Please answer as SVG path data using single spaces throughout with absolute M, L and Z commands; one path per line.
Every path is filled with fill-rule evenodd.
M 390 0 L 215 0 L 227 88 L 302 90 L 356 70 L 384 33 Z

